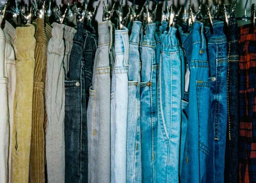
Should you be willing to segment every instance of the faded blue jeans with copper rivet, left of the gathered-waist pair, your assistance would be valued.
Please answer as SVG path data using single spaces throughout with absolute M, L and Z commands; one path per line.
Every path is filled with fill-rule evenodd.
M 141 44 L 140 126 L 142 182 L 157 181 L 157 82 L 155 23 L 146 26 Z

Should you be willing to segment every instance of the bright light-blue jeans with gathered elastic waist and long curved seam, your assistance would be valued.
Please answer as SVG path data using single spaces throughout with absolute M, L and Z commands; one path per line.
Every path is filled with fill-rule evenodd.
M 179 182 L 181 125 L 181 57 L 177 29 L 161 35 L 159 91 L 157 93 L 157 182 Z M 180 54 L 182 53 L 182 54 Z

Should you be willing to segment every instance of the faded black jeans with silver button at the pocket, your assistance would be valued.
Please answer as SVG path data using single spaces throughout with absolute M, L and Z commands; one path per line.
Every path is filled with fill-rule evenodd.
M 78 23 L 65 80 L 65 182 L 88 182 L 86 104 L 92 80 L 96 36 Z

